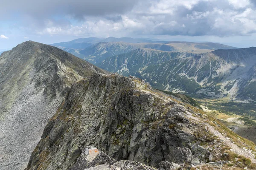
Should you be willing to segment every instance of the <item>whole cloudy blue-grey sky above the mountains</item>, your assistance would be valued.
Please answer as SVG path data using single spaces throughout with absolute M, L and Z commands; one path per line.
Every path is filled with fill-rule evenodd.
M 0 51 L 86 37 L 256 46 L 256 0 L 1 0 Z

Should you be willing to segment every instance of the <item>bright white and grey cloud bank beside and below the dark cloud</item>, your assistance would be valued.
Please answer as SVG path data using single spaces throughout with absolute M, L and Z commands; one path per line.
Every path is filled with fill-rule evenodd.
M 39 20 L 41 25 L 30 19 L 32 24 L 29 28 L 41 35 L 76 37 L 247 36 L 256 32 L 256 9 L 251 2 L 250 0 L 138 0 L 138 3 L 134 3 L 134 8 L 126 12 L 114 15 L 83 15 L 83 19 L 76 21 L 70 14 L 68 17 L 63 16 L 62 20 L 44 18 L 42 21 Z

